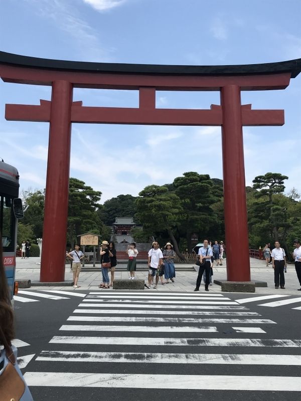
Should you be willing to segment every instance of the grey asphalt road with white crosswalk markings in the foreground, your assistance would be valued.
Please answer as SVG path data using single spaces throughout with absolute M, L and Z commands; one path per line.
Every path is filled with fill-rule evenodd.
M 301 294 L 31 293 L 16 338 L 35 401 L 301 398 Z

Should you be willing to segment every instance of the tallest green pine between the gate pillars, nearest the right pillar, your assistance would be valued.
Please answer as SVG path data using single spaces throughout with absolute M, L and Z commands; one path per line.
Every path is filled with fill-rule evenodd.
M 183 209 L 181 229 L 186 233 L 188 252 L 192 252 L 191 235 L 195 232 L 208 235 L 210 227 L 217 224 L 211 206 L 219 200 L 212 192 L 213 182 L 208 174 L 185 172 L 174 180 L 175 193 Z

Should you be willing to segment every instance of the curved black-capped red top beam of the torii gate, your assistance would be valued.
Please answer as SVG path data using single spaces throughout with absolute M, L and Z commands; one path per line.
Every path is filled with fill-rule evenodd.
M 65 80 L 75 88 L 219 91 L 234 84 L 240 90 L 275 90 L 285 89 L 300 71 L 301 59 L 234 66 L 169 66 L 51 60 L 0 52 L 0 76 L 5 82 L 52 85 Z

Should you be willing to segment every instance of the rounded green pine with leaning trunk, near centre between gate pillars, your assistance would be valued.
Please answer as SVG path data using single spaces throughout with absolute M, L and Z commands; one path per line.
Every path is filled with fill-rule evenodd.
M 143 224 L 143 230 L 152 235 L 168 234 L 175 252 L 183 259 L 174 235 L 178 218 L 183 213 L 178 195 L 175 192 L 169 192 L 164 185 L 148 185 L 139 192 L 136 207 L 135 216 Z

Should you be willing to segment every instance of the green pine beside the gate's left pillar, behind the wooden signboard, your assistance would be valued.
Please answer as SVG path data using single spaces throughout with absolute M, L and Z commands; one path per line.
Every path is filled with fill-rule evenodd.
M 71 247 L 77 236 L 86 232 L 100 234 L 100 219 L 97 214 L 101 192 L 77 178 L 69 180 L 68 242 Z

